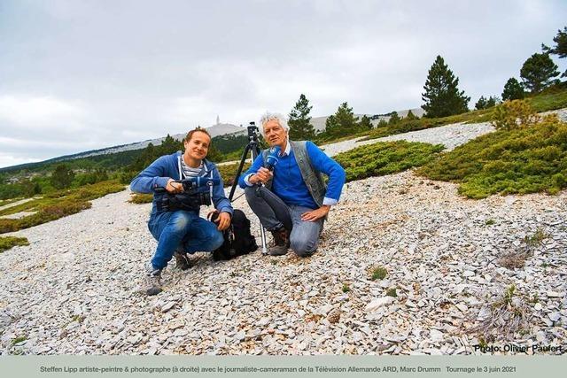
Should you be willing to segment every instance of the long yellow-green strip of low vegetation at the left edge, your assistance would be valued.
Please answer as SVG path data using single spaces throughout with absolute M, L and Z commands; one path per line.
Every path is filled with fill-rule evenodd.
M 4 209 L 3 212 L 0 212 L 0 215 L 15 214 L 17 212 L 35 213 L 18 220 L 0 219 L 0 234 L 34 227 L 81 212 L 89 209 L 91 206 L 90 200 L 119 192 L 124 190 L 124 188 L 124 185 L 115 180 L 101 181 L 78 189 L 61 190 L 41 199 L 35 199 L 25 204 Z

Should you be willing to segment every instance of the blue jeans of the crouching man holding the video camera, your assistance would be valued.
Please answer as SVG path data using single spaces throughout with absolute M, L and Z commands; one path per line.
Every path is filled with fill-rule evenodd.
M 198 216 L 198 212 L 158 212 L 148 221 L 158 248 L 151 258 L 154 269 L 163 269 L 179 247 L 186 253 L 214 251 L 224 242 L 221 231 L 213 222 Z

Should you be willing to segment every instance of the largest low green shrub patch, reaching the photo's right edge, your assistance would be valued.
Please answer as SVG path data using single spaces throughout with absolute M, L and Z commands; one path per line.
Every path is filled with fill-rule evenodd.
M 463 144 L 419 168 L 432 180 L 460 183 L 470 198 L 493 194 L 555 194 L 567 187 L 567 123 L 544 120 L 499 130 Z

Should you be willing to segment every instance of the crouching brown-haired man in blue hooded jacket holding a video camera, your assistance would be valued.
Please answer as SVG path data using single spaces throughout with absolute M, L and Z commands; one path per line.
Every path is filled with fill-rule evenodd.
M 186 259 L 186 253 L 214 251 L 223 243 L 221 231 L 229 228 L 232 206 L 224 195 L 221 174 L 216 166 L 205 158 L 210 143 L 211 135 L 205 129 L 197 127 L 185 137 L 183 154 L 177 151 L 158 158 L 130 183 L 132 191 L 154 193 L 148 228 L 158 241 L 158 248 L 151 261 L 144 266 L 150 286 L 147 289 L 148 295 L 158 294 L 162 290 L 161 271 L 174 254 L 178 266 L 187 269 L 189 261 Z M 181 193 L 182 184 L 174 181 L 190 177 L 207 177 L 219 181 L 219 185 L 214 185 L 211 196 L 214 207 L 219 212 L 219 217 L 215 220 L 218 225 L 200 218 L 198 206 L 190 210 L 159 209 L 158 204 L 165 194 L 155 193 L 154 190 L 165 188 L 170 194 Z

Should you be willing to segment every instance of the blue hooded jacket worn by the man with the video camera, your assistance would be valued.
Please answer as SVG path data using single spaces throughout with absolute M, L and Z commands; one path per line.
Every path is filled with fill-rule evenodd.
M 150 166 L 138 174 L 132 182 L 130 189 L 137 193 L 153 193 L 153 189 L 167 186 L 169 179 L 181 180 L 179 171 L 179 158 L 181 151 L 177 151 L 171 155 L 164 155 L 151 163 Z M 222 183 L 221 174 L 214 163 L 204 160 L 201 176 L 209 176 L 213 172 L 213 178 L 219 179 L 220 184 L 213 187 L 213 204 L 219 212 L 229 212 L 232 214 L 232 206 L 229 199 L 224 195 L 224 185 Z M 156 203 L 161 200 L 163 195 L 154 193 L 151 214 L 157 212 Z

